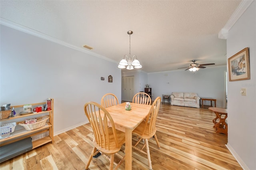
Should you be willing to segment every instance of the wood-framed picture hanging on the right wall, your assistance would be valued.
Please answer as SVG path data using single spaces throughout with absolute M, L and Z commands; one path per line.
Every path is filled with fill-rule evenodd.
M 242 49 L 228 59 L 229 81 L 250 79 L 249 48 Z

